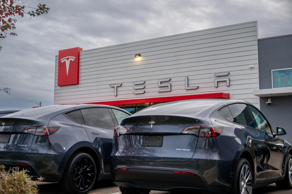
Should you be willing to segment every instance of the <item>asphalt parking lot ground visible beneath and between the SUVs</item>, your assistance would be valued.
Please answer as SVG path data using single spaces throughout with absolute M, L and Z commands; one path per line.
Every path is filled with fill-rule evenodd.
M 40 182 L 39 184 L 40 194 L 65 194 L 58 183 Z M 254 190 L 254 194 L 290 194 L 292 190 L 278 190 L 275 184 L 268 185 Z M 113 185 L 111 181 L 102 181 L 89 192 L 90 194 L 120 194 L 120 190 L 117 186 Z M 151 191 L 150 194 L 174 194 L 173 192 Z M 182 192 L 179 192 L 182 193 Z M 190 192 L 188 192 L 190 193 Z M 191 192 L 201 194 L 202 192 Z M 206 194 L 206 193 L 204 193 Z

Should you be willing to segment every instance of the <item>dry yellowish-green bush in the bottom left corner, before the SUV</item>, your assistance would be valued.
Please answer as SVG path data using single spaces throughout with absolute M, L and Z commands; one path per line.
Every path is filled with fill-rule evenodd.
M 19 168 L 10 168 L 5 171 L 5 166 L 0 165 L 0 194 L 35 194 L 38 192 L 36 183 L 43 181 L 38 178 L 32 181 L 27 170 L 19 171 Z

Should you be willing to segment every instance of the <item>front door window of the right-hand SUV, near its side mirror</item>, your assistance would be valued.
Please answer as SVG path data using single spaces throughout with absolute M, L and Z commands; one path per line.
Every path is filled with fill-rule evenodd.
M 255 124 L 255 128 L 261 131 L 273 134 L 272 129 L 267 122 L 267 120 L 263 117 L 263 115 L 254 107 L 249 106 L 250 111 L 252 112 L 252 119 Z

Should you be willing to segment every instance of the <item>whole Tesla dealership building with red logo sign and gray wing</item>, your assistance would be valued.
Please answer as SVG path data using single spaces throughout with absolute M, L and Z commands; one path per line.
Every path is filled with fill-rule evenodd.
M 55 67 L 54 104 L 106 104 L 134 113 L 176 100 L 242 99 L 274 129 L 292 134 L 292 35 L 259 39 L 257 21 L 61 50 Z M 292 142 L 291 135 L 284 138 Z

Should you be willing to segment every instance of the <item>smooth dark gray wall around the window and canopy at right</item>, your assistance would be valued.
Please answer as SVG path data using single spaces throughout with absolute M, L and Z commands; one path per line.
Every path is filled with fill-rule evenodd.
M 272 69 L 292 68 L 292 35 L 262 38 L 259 47 L 259 89 L 272 88 Z M 272 105 L 266 105 L 271 98 Z M 284 137 L 292 143 L 292 96 L 260 98 L 261 111 L 273 129 L 284 127 L 288 134 Z

